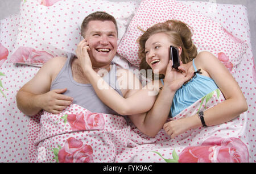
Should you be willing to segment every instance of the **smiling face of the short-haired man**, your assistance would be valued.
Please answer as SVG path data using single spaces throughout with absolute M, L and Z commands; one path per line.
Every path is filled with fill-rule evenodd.
M 117 30 L 112 21 L 92 20 L 88 23 L 85 40 L 89 43 L 88 51 L 94 67 L 109 65 L 117 53 Z

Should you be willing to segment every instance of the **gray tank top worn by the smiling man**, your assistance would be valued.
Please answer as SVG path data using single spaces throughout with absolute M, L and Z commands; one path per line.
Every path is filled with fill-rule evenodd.
M 68 90 L 63 94 L 72 97 L 73 104 L 82 106 L 93 113 L 119 115 L 98 98 L 91 84 L 81 84 L 73 79 L 71 63 L 76 56 L 72 53 L 68 53 L 67 57 L 66 63 L 51 84 L 51 90 L 67 88 Z M 122 92 L 118 86 L 117 76 L 115 76 L 116 72 L 117 67 L 115 64 L 112 64 L 110 72 L 105 74 L 102 78 L 122 96 Z

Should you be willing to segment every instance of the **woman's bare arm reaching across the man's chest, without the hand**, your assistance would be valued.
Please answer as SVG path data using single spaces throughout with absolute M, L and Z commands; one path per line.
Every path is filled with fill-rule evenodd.
M 90 84 L 92 84 L 97 96 L 101 99 L 101 101 L 115 110 L 118 114 L 132 115 L 146 113 L 154 105 L 156 96 L 149 95 L 150 90 L 147 88 L 147 86 L 143 89 L 137 90 L 134 87 L 128 89 L 129 83 L 134 83 L 128 80 L 128 84 L 126 86 L 127 88 L 125 86 L 122 87 L 128 89 L 127 93 L 131 93 L 131 91 L 135 92 L 135 90 L 136 92 L 129 97 L 127 95 L 122 97 L 96 72 L 94 72 L 93 69 L 87 68 L 85 73 L 87 74 L 86 77 L 90 81 Z M 129 76 L 133 75 L 130 74 Z M 134 79 L 136 79 L 135 76 Z M 126 79 L 123 79 L 122 81 L 126 81 Z M 135 83 L 139 83 L 139 81 Z

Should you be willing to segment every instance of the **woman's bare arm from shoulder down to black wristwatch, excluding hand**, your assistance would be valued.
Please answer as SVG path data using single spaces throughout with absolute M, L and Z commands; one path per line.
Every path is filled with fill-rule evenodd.
M 230 121 L 246 111 L 248 106 L 245 97 L 237 81 L 228 69 L 209 52 L 200 53 L 198 61 L 199 65 L 202 66 L 216 82 L 226 99 L 212 109 L 205 111 L 205 122 L 208 126 L 219 125 Z

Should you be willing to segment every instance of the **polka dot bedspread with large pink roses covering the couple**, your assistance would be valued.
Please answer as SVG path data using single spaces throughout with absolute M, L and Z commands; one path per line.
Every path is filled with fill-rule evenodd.
M 176 117 L 191 117 L 224 101 L 219 89 Z M 35 115 L 29 124 L 31 162 L 249 162 L 247 114 L 217 126 L 191 129 L 171 139 L 144 135 L 123 117 L 91 113 L 78 105 L 61 114 Z

